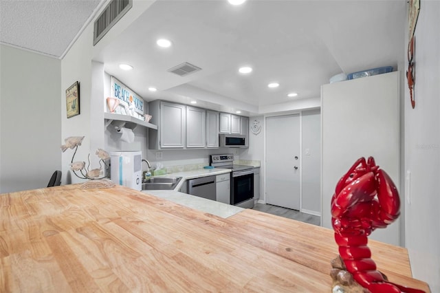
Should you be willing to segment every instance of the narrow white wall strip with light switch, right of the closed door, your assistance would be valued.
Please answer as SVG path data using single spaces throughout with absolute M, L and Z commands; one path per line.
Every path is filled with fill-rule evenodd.
M 301 211 L 321 215 L 321 115 L 320 109 L 301 113 Z M 306 155 L 309 149 L 310 155 Z

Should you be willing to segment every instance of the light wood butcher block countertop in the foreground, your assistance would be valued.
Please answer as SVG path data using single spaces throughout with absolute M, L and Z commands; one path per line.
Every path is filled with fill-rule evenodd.
M 0 292 L 331 292 L 333 231 L 255 210 L 226 219 L 130 188 L 0 195 Z M 370 241 L 390 281 L 406 249 Z

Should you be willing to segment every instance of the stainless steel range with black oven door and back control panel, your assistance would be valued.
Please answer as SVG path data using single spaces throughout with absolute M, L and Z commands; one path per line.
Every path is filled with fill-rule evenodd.
M 231 169 L 231 200 L 230 203 L 241 208 L 254 207 L 254 167 L 234 164 L 232 153 L 210 155 L 210 166 Z

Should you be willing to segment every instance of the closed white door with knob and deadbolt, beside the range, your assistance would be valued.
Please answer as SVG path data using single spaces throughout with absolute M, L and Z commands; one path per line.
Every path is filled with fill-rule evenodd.
M 300 209 L 300 116 L 266 118 L 266 203 Z

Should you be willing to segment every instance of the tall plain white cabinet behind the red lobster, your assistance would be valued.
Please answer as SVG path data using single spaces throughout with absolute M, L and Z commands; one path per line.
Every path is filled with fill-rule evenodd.
M 399 80 L 400 73 L 391 72 L 322 86 L 322 226 L 331 228 L 336 184 L 360 157 L 373 156 L 399 189 Z M 400 245 L 399 220 L 370 237 Z

